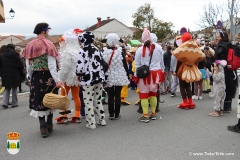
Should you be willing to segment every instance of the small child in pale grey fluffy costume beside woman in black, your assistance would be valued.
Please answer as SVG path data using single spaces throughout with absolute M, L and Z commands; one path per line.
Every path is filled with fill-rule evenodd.
M 224 99 L 226 97 L 225 89 L 225 76 L 224 67 L 227 65 L 225 60 L 216 60 L 214 63 L 213 72 L 213 99 L 214 99 L 214 111 L 209 113 L 209 116 L 219 117 L 223 115 Z

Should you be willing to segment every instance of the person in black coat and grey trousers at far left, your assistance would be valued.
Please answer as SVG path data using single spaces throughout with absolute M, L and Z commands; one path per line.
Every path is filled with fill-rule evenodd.
M 20 83 L 19 69 L 23 69 L 23 64 L 19 54 L 15 51 L 15 46 L 13 44 L 8 44 L 6 51 L 0 55 L 0 68 L 2 86 L 5 87 L 2 107 L 4 109 L 8 108 L 11 89 L 12 107 L 17 107 L 17 87 Z

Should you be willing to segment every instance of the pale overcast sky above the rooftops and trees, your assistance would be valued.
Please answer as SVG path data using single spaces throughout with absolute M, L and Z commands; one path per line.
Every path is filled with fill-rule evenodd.
M 3 0 L 5 17 L 15 11 L 14 19 L 0 23 L 0 35 L 32 35 L 35 25 L 47 22 L 50 35 L 63 34 L 71 28 L 86 29 L 102 20 L 116 18 L 127 26 L 132 25 L 132 14 L 145 3 L 150 3 L 155 17 L 172 22 L 174 30 L 181 27 L 199 30 L 194 23 L 207 0 Z M 211 0 L 217 2 L 218 0 Z

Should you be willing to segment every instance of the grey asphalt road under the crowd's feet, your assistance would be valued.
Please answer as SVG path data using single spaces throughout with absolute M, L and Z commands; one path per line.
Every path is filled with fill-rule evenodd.
M 180 93 L 174 98 L 170 94 L 161 98 L 165 100 L 158 114 L 161 120 L 139 122 L 140 114 L 134 105 L 137 95 L 130 90 L 128 100 L 132 105 L 122 106 L 120 120 L 107 119 L 107 126 L 97 126 L 95 130 L 87 129 L 84 120 L 81 124 L 54 124 L 54 132 L 43 139 L 38 119 L 29 116 L 28 94 L 21 95 L 19 107 L 0 108 L 0 160 L 239 159 L 240 134 L 226 129 L 237 122 L 236 107 L 222 117 L 209 117 L 213 101 L 206 94 L 203 100 L 196 101 L 194 110 L 176 108 Z M 106 105 L 104 108 L 107 111 Z M 7 152 L 6 134 L 10 131 L 21 134 L 17 155 Z

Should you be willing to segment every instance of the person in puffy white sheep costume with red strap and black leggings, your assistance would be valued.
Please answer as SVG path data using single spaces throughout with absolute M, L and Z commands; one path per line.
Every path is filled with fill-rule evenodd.
M 116 33 L 109 33 L 104 41 L 108 47 L 103 48 L 103 59 L 108 63 L 106 72 L 106 90 L 108 93 L 109 119 L 121 118 L 121 90 L 130 83 L 128 66 L 122 47 L 119 47 L 120 38 Z

